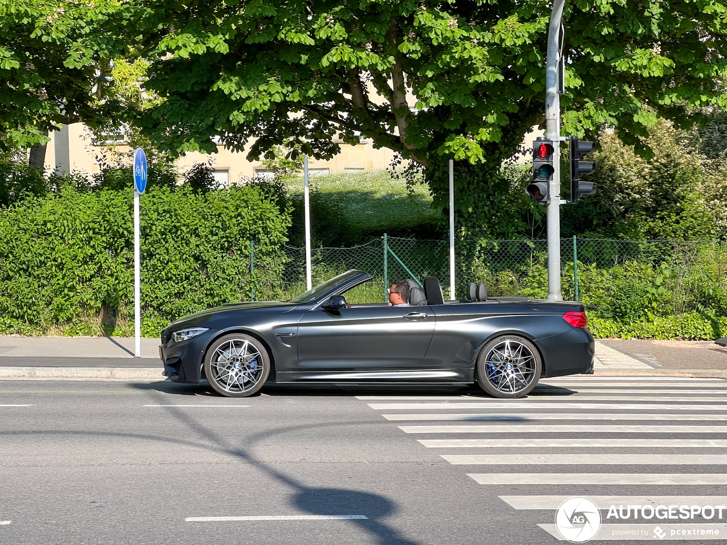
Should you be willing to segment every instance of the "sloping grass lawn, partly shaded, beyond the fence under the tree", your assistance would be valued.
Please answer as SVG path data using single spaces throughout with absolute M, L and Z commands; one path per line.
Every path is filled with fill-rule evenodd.
M 354 225 L 375 229 L 389 225 L 393 219 L 410 221 L 440 216 L 440 211 L 431 206 L 432 197 L 426 185 L 414 186 L 409 192 L 403 179 L 392 179 L 385 170 L 313 177 L 310 187 L 345 213 Z M 302 177 L 290 179 L 288 189 L 293 194 L 302 193 Z

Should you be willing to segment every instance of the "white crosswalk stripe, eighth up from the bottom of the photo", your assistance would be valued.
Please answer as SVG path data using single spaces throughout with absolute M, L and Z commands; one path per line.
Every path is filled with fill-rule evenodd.
M 583 399 L 580 397 L 579 399 Z M 627 399 L 631 399 L 627 397 Z M 392 409 L 462 409 L 462 408 L 591 408 L 598 409 L 626 409 L 627 411 L 727 411 L 727 405 L 669 405 L 667 403 L 538 403 L 537 401 L 491 401 L 490 403 L 368 403 L 369 407 L 377 411 Z

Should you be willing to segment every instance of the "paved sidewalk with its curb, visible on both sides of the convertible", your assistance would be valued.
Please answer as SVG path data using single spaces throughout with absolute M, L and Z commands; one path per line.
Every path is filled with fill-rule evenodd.
M 0 379 L 164 380 L 159 339 L 0 336 Z M 713 342 L 599 339 L 595 374 L 727 378 L 727 349 Z

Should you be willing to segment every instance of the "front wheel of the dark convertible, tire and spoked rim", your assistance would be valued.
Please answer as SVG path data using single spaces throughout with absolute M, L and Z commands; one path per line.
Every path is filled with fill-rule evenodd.
M 270 355 L 253 336 L 233 333 L 216 339 L 204 357 L 204 374 L 215 392 L 247 397 L 260 391 L 270 375 Z

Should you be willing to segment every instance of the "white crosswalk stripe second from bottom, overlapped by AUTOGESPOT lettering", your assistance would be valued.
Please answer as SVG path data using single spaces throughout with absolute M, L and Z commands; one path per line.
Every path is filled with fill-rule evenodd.
M 572 496 L 498 496 L 513 509 L 558 509 L 558 507 Z M 598 509 L 608 509 L 611 505 L 622 505 L 624 511 L 627 505 L 711 505 L 727 504 L 727 496 L 588 496 L 598 506 Z M 724 509 L 724 508 L 723 508 Z M 639 515 L 641 513 L 639 512 Z M 641 517 L 639 517 L 641 518 Z M 651 522 L 656 520 L 653 518 Z

